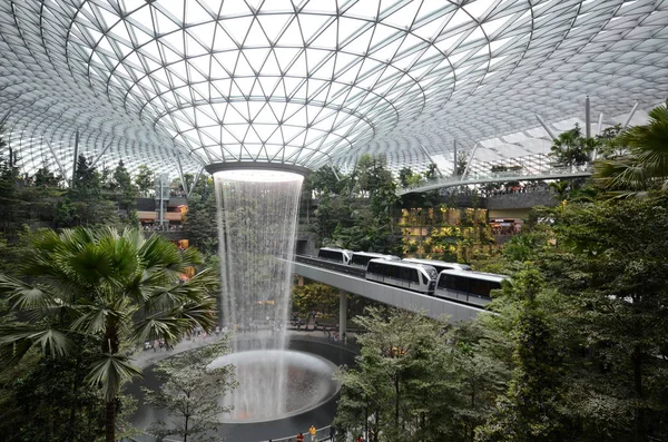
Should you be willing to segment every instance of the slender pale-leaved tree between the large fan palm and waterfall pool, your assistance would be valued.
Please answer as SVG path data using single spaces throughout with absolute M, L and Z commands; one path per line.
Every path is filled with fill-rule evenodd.
M 223 341 L 180 353 L 156 364 L 154 372 L 160 381 L 160 387 L 157 391 L 146 387 L 141 390 L 146 402 L 166 410 L 169 415 L 176 418 L 176 423 L 168 426 L 158 421 L 148 429 L 151 434 L 158 438 L 177 435 L 183 438 L 184 442 L 219 440 L 207 433 L 216 430 L 216 421 L 220 414 L 232 411 L 229 406 L 218 405 L 218 399 L 236 386 L 234 365 L 214 370 L 207 367 L 214 358 L 227 352 L 227 342 Z

